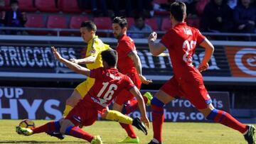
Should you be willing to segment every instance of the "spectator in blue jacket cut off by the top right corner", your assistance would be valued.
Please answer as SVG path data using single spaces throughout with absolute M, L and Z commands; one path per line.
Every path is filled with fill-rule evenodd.
M 255 33 L 256 8 L 250 0 L 241 0 L 234 9 L 235 29 L 240 33 Z

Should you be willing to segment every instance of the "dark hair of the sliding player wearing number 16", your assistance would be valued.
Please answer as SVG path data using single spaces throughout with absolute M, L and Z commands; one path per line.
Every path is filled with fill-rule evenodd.
M 110 48 L 108 50 L 102 51 L 101 55 L 102 60 L 107 62 L 107 65 L 110 67 L 115 67 L 117 65 L 117 51 Z

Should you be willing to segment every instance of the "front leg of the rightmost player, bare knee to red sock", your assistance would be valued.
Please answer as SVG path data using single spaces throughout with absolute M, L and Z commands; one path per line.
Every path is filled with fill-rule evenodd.
M 153 99 L 151 99 L 154 138 L 149 143 L 161 143 L 162 126 L 164 123 L 164 104 L 172 100 L 174 100 L 174 97 L 169 96 L 169 94 L 166 94 L 162 90 L 159 90 Z

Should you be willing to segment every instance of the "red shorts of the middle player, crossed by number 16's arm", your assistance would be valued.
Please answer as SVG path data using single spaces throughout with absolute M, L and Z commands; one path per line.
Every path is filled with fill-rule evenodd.
M 137 74 L 137 72 L 131 72 L 129 74 L 127 74 L 127 76 L 129 78 L 132 79 L 132 82 L 134 82 L 134 85 L 140 89 L 142 86 L 142 81 L 139 79 L 139 74 Z M 132 100 L 134 98 L 134 95 L 132 95 L 132 93 L 130 93 L 129 91 L 127 91 L 127 89 L 123 89 L 121 92 L 119 92 L 119 94 L 117 95 L 117 99 L 115 100 L 115 102 L 119 105 L 124 104 L 125 102 Z

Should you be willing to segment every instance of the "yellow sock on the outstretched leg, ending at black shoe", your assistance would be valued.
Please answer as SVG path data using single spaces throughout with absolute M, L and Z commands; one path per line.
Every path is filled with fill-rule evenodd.
M 108 111 L 106 119 L 117 121 L 119 123 L 124 123 L 124 124 L 132 124 L 132 118 L 130 118 L 129 116 L 125 116 L 119 111 L 113 111 L 113 110 Z

